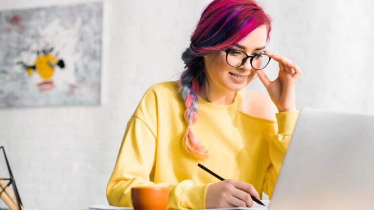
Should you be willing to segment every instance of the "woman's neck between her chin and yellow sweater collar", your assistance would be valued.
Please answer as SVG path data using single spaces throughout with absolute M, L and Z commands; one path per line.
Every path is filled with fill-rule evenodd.
M 230 105 L 234 102 L 236 92 L 215 87 L 211 83 L 209 85 L 210 88 L 207 84 L 200 88 L 201 98 L 216 105 Z

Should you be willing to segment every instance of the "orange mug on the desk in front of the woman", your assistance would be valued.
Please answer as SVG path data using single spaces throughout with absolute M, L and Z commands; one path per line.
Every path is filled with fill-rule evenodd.
M 169 202 L 169 188 L 133 187 L 131 201 L 134 210 L 165 210 Z

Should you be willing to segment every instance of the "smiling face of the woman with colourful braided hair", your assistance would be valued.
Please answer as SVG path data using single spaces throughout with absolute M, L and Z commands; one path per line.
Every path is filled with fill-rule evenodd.
M 238 44 L 228 47 L 232 50 L 241 50 L 248 55 L 262 53 L 265 49 L 267 27 L 261 25 L 249 33 Z M 250 58 L 241 67 L 231 67 L 226 62 L 226 53 L 223 51 L 210 53 L 204 56 L 206 77 L 210 89 L 218 91 L 239 91 L 252 81 L 256 70 L 252 69 Z M 218 89 L 217 89 L 218 88 Z

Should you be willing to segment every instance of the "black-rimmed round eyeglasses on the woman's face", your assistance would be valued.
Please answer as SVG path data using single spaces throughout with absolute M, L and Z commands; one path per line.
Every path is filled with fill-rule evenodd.
M 248 58 L 251 66 L 255 70 L 264 69 L 270 62 L 271 57 L 267 56 L 265 53 L 255 53 L 253 55 L 247 55 L 243 51 L 239 50 L 222 50 L 226 53 L 226 62 L 232 67 L 243 66 Z

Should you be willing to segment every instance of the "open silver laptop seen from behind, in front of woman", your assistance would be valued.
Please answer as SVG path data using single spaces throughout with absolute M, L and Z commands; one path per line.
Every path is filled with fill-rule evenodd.
M 267 209 L 370 210 L 373 197 L 374 116 L 301 109 Z M 222 210 L 251 209 L 266 208 Z

